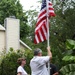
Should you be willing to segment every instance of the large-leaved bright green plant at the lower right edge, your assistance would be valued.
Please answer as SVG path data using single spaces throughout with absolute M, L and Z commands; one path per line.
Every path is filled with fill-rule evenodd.
M 68 39 L 66 41 L 66 47 L 68 51 L 65 53 L 65 56 L 62 60 L 68 62 L 68 65 L 63 66 L 60 69 L 60 75 L 75 75 L 75 41 Z M 70 64 L 69 64 L 70 63 Z

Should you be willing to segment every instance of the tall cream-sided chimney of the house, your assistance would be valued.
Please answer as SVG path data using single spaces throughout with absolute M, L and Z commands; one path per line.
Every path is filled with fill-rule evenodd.
M 19 49 L 19 20 L 7 18 L 5 20 L 6 28 L 6 51 L 12 47 L 14 50 Z

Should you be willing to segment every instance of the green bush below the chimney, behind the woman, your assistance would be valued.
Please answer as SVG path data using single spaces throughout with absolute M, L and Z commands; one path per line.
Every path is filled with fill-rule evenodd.
M 27 58 L 27 64 L 25 66 L 25 70 L 27 73 L 30 73 L 30 59 L 33 57 L 32 51 L 30 50 L 17 50 L 17 52 L 14 52 L 12 49 L 11 51 L 4 55 L 1 64 L 0 64 L 0 75 L 17 75 L 17 67 L 19 66 L 17 64 L 17 59 L 20 57 L 26 57 Z

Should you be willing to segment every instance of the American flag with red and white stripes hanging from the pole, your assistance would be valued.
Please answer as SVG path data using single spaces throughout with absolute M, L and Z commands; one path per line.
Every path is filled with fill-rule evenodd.
M 38 44 L 47 40 L 47 14 L 49 17 L 55 16 L 54 8 L 50 0 L 48 0 L 48 13 L 47 13 L 47 3 L 46 0 L 42 0 L 41 11 L 38 15 L 36 28 L 35 28 L 35 38 L 34 43 Z

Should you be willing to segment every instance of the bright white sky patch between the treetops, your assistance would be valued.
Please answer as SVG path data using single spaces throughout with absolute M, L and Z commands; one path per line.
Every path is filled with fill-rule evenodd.
M 20 3 L 23 6 L 23 10 L 30 10 L 31 6 L 33 6 L 33 9 L 39 6 L 39 3 L 37 1 L 39 0 L 20 0 Z

